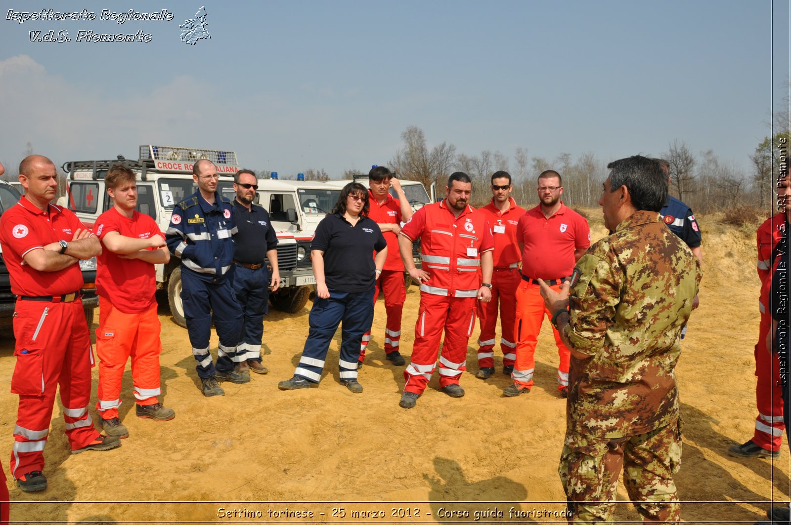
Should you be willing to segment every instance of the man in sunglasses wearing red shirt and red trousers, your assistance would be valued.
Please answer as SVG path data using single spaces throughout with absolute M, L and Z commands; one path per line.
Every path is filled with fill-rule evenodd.
M 517 310 L 517 286 L 521 281 L 517 245 L 517 223 L 524 208 L 511 198 L 509 172 L 494 172 L 491 180 L 492 202 L 483 206 L 494 236 L 494 273 L 492 274 L 492 300 L 480 306 L 481 334 L 478 339 L 478 373 L 482 380 L 494 374 L 494 329 L 497 327 L 498 303 L 500 304 L 502 373 L 510 376 L 517 343 L 514 342 L 513 324 Z

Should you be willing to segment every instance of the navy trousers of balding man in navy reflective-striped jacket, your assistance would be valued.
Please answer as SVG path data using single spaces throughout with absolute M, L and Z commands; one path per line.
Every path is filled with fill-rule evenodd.
M 231 279 L 226 274 L 219 282 L 204 281 L 192 270 L 181 266 L 181 285 L 184 319 L 187 319 L 192 355 L 198 361 L 195 365 L 198 376 L 202 380 L 214 376 L 214 362 L 209 353 L 213 319 L 220 338 L 217 369 L 230 372 L 234 362 L 239 361 L 237 344 L 242 320 L 242 311 L 233 292 Z

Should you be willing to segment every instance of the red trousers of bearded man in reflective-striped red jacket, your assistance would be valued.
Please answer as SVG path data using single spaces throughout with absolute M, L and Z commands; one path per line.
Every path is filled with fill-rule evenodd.
M 459 383 L 466 370 L 467 342 L 475 327 L 475 297 L 448 297 L 420 294 L 418 322 L 414 326 L 411 363 L 403 371 L 406 384 L 403 391 L 422 394 L 431 380 L 442 342 L 440 357 L 440 386 Z

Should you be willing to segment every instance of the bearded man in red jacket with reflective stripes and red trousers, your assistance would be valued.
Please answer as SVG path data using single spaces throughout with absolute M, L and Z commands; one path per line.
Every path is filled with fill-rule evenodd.
M 426 390 L 437 364 L 443 329 L 440 386 L 452 398 L 464 395 L 459 378 L 466 370 L 467 341 L 475 327 L 475 300 L 491 300 L 494 250 L 486 215 L 467 205 L 471 191 L 470 177 L 453 173 L 445 187 L 445 200 L 423 206 L 401 229 L 401 259 L 411 277 L 420 283 L 412 358 L 403 372 L 406 383 L 399 402 L 402 408 L 415 406 L 418 395 Z M 412 243 L 418 238 L 421 270 L 412 259 Z

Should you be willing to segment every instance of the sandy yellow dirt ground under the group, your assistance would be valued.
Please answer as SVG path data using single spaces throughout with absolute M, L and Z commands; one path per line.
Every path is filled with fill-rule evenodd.
M 600 210 L 589 213 L 604 235 Z M 754 227 L 702 217 L 701 307 L 683 341 L 677 375 L 684 423 L 676 477 L 688 523 L 752 523 L 771 501 L 788 500 L 789 450 L 780 459 L 735 459 L 729 445 L 755 424 L 753 346 L 758 334 Z M 409 357 L 419 293 L 407 294 L 402 349 Z M 130 436 L 113 451 L 70 455 L 55 409 L 44 473 L 49 488 L 23 493 L 9 482 L 17 523 L 563 523 L 557 466 L 565 405 L 555 385 L 557 351 L 548 320 L 536 352 L 536 386 L 505 398 L 509 378 L 475 379 L 475 340 L 449 398 L 437 377 L 413 410 L 399 408 L 403 367 L 384 360 L 384 304 L 354 395 L 339 384 L 339 334 L 320 386 L 278 391 L 292 376 L 308 333 L 308 307 L 265 319 L 267 376 L 224 383 L 224 397 L 199 392 L 186 330 L 161 300 L 162 400 L 176 419 L 134 417 L 127 368 L 120 413 Z M 97 316 L 98 319 L 98 316 Z M 96 326 L 93 326 L 95 329 Z M 212 338 L 216 356 L 217 338 Z M 0 340 L 0 384 L 13 372 L 13 340 Z M 94 370 L 93 403 L 97 372 Z M 8 471 L 17 398 L 0 392 L 0 461 Z M 93 411 L 94 421 L 98 419 Z M 619 487 L 615 518 L 639 521 Z M 465 514 L 466 513 L 466 514 Z

